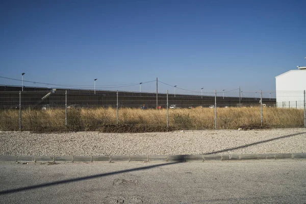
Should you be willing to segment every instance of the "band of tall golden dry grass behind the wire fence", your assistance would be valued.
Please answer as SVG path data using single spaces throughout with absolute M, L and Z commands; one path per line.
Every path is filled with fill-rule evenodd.
M 0 111 L 0 130 L 19 130 L 19 110 Z M 68 110 L 68 131 L 146 132 L 167 130 L 167 110 L 121 108 L 119 125 L 113 108 Z M 264 127 L 303 127 L 303 110 L 264 108 Z M 127 128 L 128 127 L 128 128 Z M 170 109 L 169 130 L 214 129 L 215 109 Z M 260 108 L 218 108 L 218 129 L 261 128 Z M 66 131 L 65 110 L 22 110 L 24 131 Z

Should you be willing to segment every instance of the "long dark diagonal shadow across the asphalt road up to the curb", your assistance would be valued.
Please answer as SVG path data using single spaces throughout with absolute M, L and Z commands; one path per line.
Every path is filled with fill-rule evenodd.
M 182 155 L 182 157 L 184 157 L 184 156 Z M 183 161 L 183 159 L 182 159 L 182 161 Z M 72 182 L 79 182 L 79 181 L 84 181 L 84 180 L 96 179 L 98 177 L 104 177 L 104 176 L 109 176 L 109 175 L 114 175 L 114 174 L 119 174 L 119 173 L 126 173 L 126 172 L 131 172 L 131 171 L 141 171 L 141 170 L 157 168 L 157 167 L 160 167 L 160 166 L 166 166 L 166 165 L 177 164 L 177 163 L 182 163 L 182 162 L 177 161 L 177 162 L 156 164 L 156 165 L 151 165 L 151 166 L 138 167 L 138 168 L 133 168 L 133 169 L 126 169 L 126 170 L 121 170 L 121 171 L 99 173 L 99 174 L 95 174 L 95 175 L 83 176 L 83 177 L 78 177 L 78 178 L 74 178 L 74 179 L 67 179 L 67 180 L 62 180 L 62 181 L 57 181 L 57 182 L 50 182 L 50 183 L 33 185 L 33 186 L 9 189 L 9 190 L 0 191 L 0 195 L 16 193 L 16 192 L 20 192 L 20 191 L 33 190 L 33 189 L 49 187 L 49 186 L 55 186 L 55 185 L 60 185 L 60 184 L 67 184 L 67 183 L 72 183 Z

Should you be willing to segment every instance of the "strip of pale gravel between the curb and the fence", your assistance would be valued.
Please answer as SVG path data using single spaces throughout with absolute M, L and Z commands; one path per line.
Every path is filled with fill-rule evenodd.
M 133 134 L 0 132 L 0 156 L 197 155 L 298 152 L 306 152 L 306 129 L 177 131 Z

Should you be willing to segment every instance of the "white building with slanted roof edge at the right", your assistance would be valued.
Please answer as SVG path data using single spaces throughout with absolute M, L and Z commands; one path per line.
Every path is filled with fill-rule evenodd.
M 278 108 L 304 108 L 306 67 L 298 67 L 275 77 Z

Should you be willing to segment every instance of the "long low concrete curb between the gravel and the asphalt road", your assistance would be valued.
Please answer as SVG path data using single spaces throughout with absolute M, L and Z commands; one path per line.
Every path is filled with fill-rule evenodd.
M 111 155 L 111 156 L 0 156 L 0 163 L 43 162 L 206 162 L 243 160 L 306 159 L 306 153 L 242 155 Z

